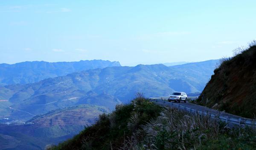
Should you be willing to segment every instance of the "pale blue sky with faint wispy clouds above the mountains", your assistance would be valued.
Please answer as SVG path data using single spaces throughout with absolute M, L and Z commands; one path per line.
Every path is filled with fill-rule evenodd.
M 255 0 L 0 0 L 0 63 L 205 61 L 255 39 Z

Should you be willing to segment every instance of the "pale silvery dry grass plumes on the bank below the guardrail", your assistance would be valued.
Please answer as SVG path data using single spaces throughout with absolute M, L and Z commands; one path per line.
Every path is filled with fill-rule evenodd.
M 131 118 L 129 127 L 136 126 L 136 119 Z M 127 137 L 120 150 L 198 150 L 207 141 L 218 141 L 222 134 L 234 135 L 229 127 L 209 115 L 191 115 L 166 108 L 159 117 Z

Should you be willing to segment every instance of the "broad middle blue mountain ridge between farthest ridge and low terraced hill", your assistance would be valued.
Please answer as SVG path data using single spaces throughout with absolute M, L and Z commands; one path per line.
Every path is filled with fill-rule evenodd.
M 3 112 L 0 116 L 26 121 L 33 115 L 76 104 L 95 104 L 113 110 L 120 101 L 129 102 L 137 92 L 147 97 L 167 96 L 176 90 L 201 92 L 213 73 L 213 64 L 205 61 L 186 64 L 187 67 L 162 64 L 107 67 L 34 84 L 8 85 L 0 88 L 7 91 L 4 99 L 8 100 L 8 103 L 0 102 L 0 106 L 5 104 L 0 107 Z

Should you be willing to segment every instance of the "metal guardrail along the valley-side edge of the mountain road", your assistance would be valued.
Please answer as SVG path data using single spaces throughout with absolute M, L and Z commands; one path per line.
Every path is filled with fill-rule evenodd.
M 189 98 L 189 97 L 188 97 Z M 168 100 L 168 97 L 153 97 L 153 98 L 149 98 L 150 101 L 155 101 L 155 102 L 163 102 L 163 104 L 171 104 L 171 107 L 177 108 L 178 110 L 183 110 L 186 111 L 188 113 L 192 113 L 192 114 L 200 114 L 200 115 L 210 115 L 211 118 L 215 118 L 215 119 L 219 119 L 221 121 L 224 121 L 227 123 L 227 125 L 239 125 L 239 126 L 256 126 L 256 120 L 253 119 L 247 119 L 247 118 L 232 118 L 230 116 L 225 116 L 225 115 L 221 115 L 221 114 L 212 114 L 210 111 L 205 112 L 205 111 L 201 111 L 201 110 L 195 110 L 192 109 L 190 107 L 184 107 L 182 105 L 175 104 L 172 102 L 168 102 L 166 100 Z

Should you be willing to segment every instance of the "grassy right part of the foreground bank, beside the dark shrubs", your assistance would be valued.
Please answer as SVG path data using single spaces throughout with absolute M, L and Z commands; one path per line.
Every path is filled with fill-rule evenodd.
M 253 150 L 255 140 L 255 130 L 234 130 L 209 115 L 166 108 L 127 137 L 120 150 Z

